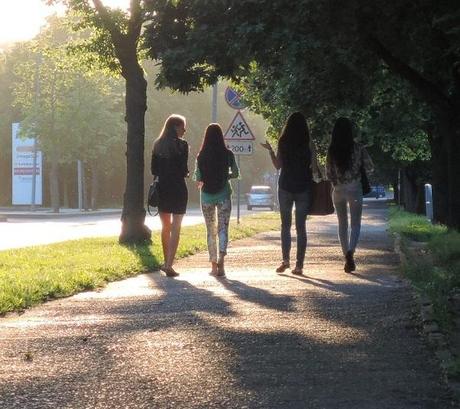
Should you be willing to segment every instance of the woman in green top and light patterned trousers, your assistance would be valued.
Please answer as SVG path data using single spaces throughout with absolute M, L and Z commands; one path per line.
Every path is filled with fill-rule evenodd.
M 225 275 L 224 258 L 227 255 L 228 225 L 232 212 L 232 187 L 229 179 L 238 177 L 235 156 L 225 146 L 222 128 L 219 124 L 208 125 L 196 158 L 195 180 L 200 189 L 201 210 L 206 223 L 210 274 L 215 276 Z

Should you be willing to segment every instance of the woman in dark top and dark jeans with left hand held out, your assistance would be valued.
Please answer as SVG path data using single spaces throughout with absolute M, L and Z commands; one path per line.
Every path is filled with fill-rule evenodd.
M 268 142 L 261 145 L 270 152 L 276 169 L 281 169 L 278 180 L 278 201 L 283 261 L 276 272 L 282 273 L 290 267 L 292 207 L 295 204 L 297 259 L 292 274 L 301 275 L 307 248 L 305 224 L 311 203 L 311 185 L 313 180 L 321 180 L 316 152 L 303 114 L 294 112 L 287 119 L 281 132 L 276 155 Z

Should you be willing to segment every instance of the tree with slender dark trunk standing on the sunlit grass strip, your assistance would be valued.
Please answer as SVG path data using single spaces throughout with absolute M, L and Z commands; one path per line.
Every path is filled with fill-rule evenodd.
M 127 175 L 121 216 L 122 243 L 150 240 L 145 225 L 144 208 L 144 137 L 147 109 L 147 81 L 139 63 L 138 46 L 145 19 L 144 1 L 131 0 L 124 13 L 111 10 L 101 0 L 48 0 L 62 2 L 79 13 L 78 28 L 93 28 L 94 34 L 86 50 L 97 55 L 99 62 L 118 71 L 126 82 Z

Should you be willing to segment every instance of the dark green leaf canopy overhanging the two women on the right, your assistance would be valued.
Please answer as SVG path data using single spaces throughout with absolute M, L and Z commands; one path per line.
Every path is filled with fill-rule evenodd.
M 378 147 L 379 162 L 428 166 L 429 137 L 441 126 L 433 98 L 455 89 L 460 58 L 454 3 L 159 1 L 150 3 L 145 43 L 162 63 L 159 86 L 188 92 L 218 76 L 235 80 L 250 109 L 270 122 L 272 142 L 300 110 L 324 153 L 335 118 L 345 115 L 362 129 L 362 142 Z M 371 39 L 400 59 L 398 69 L 382 63 Z M 391 167 L 381 178 L 394 180 Z

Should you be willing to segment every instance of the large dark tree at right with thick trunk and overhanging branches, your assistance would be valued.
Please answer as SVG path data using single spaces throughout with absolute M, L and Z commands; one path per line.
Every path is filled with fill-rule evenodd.
M 429 109 L 422 131 L 430 136 L 434 158 L 436 218 L 460 226 L 460 17 L 455 2 L 151 4 L 146 43 L 150 57 L 162 62 L 159 85 L 189 91 L 218 76 L 252 78 L 262 103 L 275 97 L 289 109 L 322 119 L 332 112 L 367 110 L 382 69 L 403 79 L 416 110 Z M 267 91 L 267 84 L 277 92 Z

